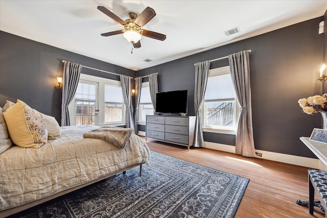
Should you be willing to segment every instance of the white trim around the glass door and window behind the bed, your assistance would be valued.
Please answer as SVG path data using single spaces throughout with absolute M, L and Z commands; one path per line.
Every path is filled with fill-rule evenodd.
M 98 125 L 99 126 L 105 126 L 105 125 L 113 125 L 113 126 L 125 126 L 126 125 L 126 106 L 125 104 L 123 104 L 123 122 L 104 122 L 105 117 L 104 117 L 104 111 L 105 111 L 105 92 L 104 92 L 104 86 L 105 84 L 111 84 L 111 85 L 119 85 L 121 86 L 121 82 L 120 81 L 116 81 L 116 80 L 110 80 L 110 79 L 105 79 L 105 78 L 101 78 L 101 77 L 95 77 L 95 76 L 91 76 L 91 75 L 86 75 L 86 74 L 81 74 L 80 75 L 80 80 L 84 80 L 85 82 L 89 81 L 89 82 L 95 82 L 98 83 L 98 108 L 100 111 L 102 111 L 101 113 L 99 113 L 98 115 Z M 68 110 L 69 110 L 69 116 L 73 121 L 75 120 L 75 124 L 76 124 L 76 99 L 74 96 L 74 99 L 72 100 L 72 103 L 69 104 L 68 106 Z M 71 113 L 71 111 L 73 111 L 73 113 Z

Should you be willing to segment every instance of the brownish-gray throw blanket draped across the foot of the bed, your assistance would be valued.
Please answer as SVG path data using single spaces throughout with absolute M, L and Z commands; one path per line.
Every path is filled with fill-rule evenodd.
M 134 129 L 121 127 L 104 126 L 89 132 L 83 133 L 84 138 L 99 138 L 110 142 L 114 146 L 124 149 Z

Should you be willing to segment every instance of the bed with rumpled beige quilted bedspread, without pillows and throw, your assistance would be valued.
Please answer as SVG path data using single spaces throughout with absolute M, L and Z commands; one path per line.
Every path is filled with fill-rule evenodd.
M 0 114 L 0 119 L 2 116 Z M 1 126 L 3 130 L 4 125 Z M 85 135 L 83 137 L 83 134 L 99 129 L 97 126 L 59 128 L 60 137 L 47 140 L 38 149 L 22 148 L 13 144 L 4 151 L 3 142 L 6 136 L 2 134 L 0 217 L 25 210 L 136 166 L 140 166 L 141 171 L 142 164 L 149 164 L 150 150 L 147 144 L 133 133 L 127 138 L 124 148 L 119 148 L 103 139 L 85 138 Z M 7 142 L 10 139 L 7 137 Z

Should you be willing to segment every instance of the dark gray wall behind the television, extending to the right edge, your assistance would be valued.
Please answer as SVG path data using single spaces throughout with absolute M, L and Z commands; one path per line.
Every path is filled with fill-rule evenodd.
M 321 94 L 317 80 L 323 58 L 323 17 L 255 36 L 213 50 L 139 70 L 137 76 L 158 72 L 158 89 L 188 89 L 189 115 L 194 115 L 194 63 L 224 57 L 243 50 L 250 53 L 252 120 L 255 148 L 263 151 L 316 158 L 299 140 L 321 128 L 320 114 L 308 115 L 297 101 Z M 205 40 L 205 39 L 203 39 Z M 213 62 L 211 68 L 228 65 Z M 235 136 L 204 133 L 204 140 L 235 145 Z

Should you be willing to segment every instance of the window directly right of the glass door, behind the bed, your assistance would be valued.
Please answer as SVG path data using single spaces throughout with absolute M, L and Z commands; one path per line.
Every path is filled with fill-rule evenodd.
M 105 84 L 105 123 L 123 122 L 124 96 L 119 85 Z

